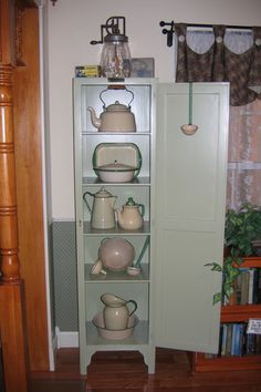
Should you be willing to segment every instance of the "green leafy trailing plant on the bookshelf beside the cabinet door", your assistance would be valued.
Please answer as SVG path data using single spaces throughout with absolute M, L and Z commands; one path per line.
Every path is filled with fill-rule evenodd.
M 213 295 L 213 305 L 223 298 L 228 300 L 234 291 L 234 282 L 240 274 L 243 258 L 252 256 L 253 241 L 261 239 L 261 207 L 244 203 L 239 210 L 229 209 L 225 224 L 225 259 L 221 267 L 209 262 L 212 271 L 222 274 L 222 290 Z

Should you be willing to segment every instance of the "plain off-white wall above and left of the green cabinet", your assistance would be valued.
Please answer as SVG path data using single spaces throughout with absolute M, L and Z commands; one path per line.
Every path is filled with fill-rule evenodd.
M 260 0 L 58 0 L 48 1 L 49 114 L 52 216 L 74 218 L 72 78 L 74 66 L 98 64 L 100 25 L 126 17 L 134 58 L 155 59 L 156 76 L 174 81 L 174 50 L 159 21 L 261 25 Z

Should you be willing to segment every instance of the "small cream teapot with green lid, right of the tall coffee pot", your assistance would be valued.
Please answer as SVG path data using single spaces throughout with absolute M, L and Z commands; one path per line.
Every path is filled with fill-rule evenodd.
M 145 206 L 136 204 L 133 197 L 127 199 L 123 206 L 123 210 L 116 210 L 117 223 L 125 230 L 137 230 L 143 227 L 143 217 L 145 214 Z

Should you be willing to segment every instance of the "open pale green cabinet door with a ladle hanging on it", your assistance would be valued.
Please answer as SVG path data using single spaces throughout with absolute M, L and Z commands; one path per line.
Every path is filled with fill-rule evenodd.
M 227 178 L 229 86 L 159 84 L 156 137 L 156 345 L 217 352 Z

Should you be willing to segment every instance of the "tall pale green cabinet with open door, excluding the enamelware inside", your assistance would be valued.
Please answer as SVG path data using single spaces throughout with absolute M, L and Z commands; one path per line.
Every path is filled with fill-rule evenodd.
M 75 213 L 81 372 L 92 354 L 103 350 L 138 350 L 150 373 L 155 347 L 217 350 L 220 309 L 212 295 L 221 277 L 206 262 L 222 260 L 228 133 L 228 84 L 194 85 L 195 135 L 182 133 L 188 123 L 188 84 L 161 84 L 155 79 L 126 79 L 134 96 L 135 132 L 98 131 L 88 106 L 97 116 L 105 105 L 128 105 L 123 82 L 79 78 L 74 90 Z M 191 101 L 191 100 L 190 100 Z M 142 156 L 138 176 L 128 183 L 103 183 L 93 169 L 94 152 L 103 144 L 134 144 Z M 124 230 L 94 229 L 84 193 L 104 186 L 122 208 L 128 197 L 145 207 L 144 225 Z M 88 204 L 92 209 L 92 196 Z M 142 274 L 126 270 L 91 275 L 104 238 L 124 238 L 142 255 Z M 149 245 L 145 248 L 145 244 Z M 93 318 L 103 311 L 101 296 L 114 293 L 137 302 L 138 323 L 124 340 L 101 337 Z

